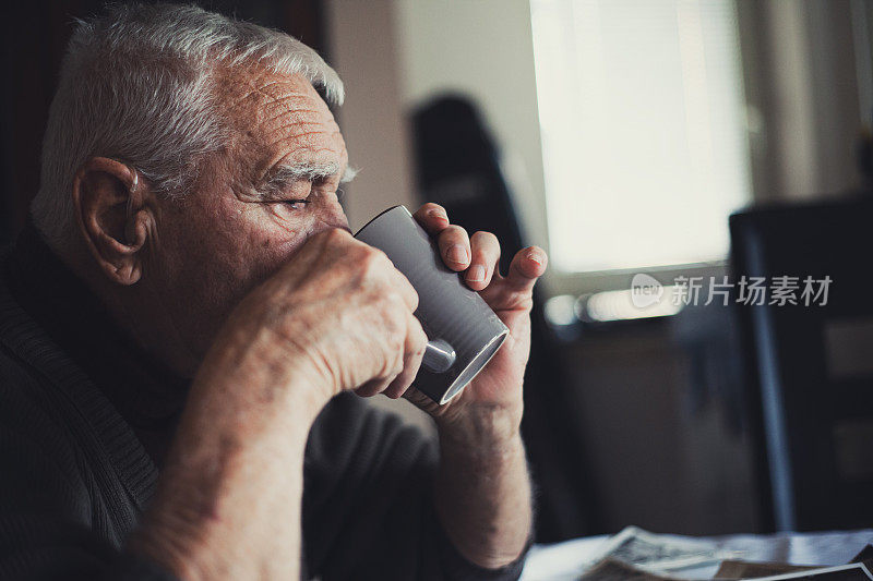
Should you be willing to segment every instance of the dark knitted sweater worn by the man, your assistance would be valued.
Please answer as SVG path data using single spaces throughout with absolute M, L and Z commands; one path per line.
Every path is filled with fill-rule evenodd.
M 123 545 L 188 383 L 132 344 L 32 226 L 0 269 L 0 579 L 174 579 Z M 307 444 L 304 577 L 516 579 L 521 559 L 481 569 L 447 540 L 435 463 L 417 429 L 334 398 Z

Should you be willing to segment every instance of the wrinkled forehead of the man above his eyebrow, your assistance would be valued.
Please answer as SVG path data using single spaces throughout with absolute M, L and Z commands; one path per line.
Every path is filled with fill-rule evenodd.
M 228 70 L 218 75 L 216 93 L 242 145 L 240 154 L 250 157 L 255 173 L 278 161 L 346 165 L 339 126 L 303 76 Z

